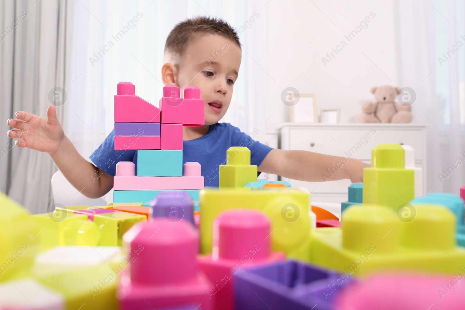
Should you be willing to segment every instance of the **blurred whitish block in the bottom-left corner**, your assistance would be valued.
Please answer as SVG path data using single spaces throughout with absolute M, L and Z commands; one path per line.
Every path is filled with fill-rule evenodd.
M 65 297 L 33 278 L 0 284 L 2 310 L 65 310 Z

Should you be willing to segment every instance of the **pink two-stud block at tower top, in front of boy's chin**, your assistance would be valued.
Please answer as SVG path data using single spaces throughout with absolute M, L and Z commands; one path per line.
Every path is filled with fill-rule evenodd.
M 179 98 L 179 87 L 165 85 L 159 101 L 161 123 L 198 127 L 205 124 L 205 102 L 200 99 L 200 89 L 188 86 L 184 98 Z

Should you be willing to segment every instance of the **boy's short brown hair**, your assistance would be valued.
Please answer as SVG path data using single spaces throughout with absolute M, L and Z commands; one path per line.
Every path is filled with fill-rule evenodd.
M 237 43 L 240 48 L 239 36 L 234 28 L 226 21 L 207 16 L 198 16 L 181 21 L 171 30 L 165 43 L 165 57 L 167 54 L 175 59 L 181 59 L 191 40 L 201 35 L 217 34 Z M 233 42 L 230 42 L 233 44 Z

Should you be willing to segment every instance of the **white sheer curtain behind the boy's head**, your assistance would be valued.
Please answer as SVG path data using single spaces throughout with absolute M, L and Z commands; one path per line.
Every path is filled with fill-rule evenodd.
M 239 35 L 243 44 L 239 79 L 222 121 L 247 133 L 257 128 L 260 134 L 255 139 L 263 140 L 265 119 L 259 111 L 264 107 L 260 66 L 265 19 L 247 20 L 254 12 L 262 13 L 264 5 L 246 0 L 76 1 L 66 130 L 78 151 L 87 158 L 113 129 L 113 96 L 118 82 L 132 82 L 136 95 L 158 105 L 166 37 L 179 21 L 197 15 L 223 18 L 237 29 L 245 25 Z M 116 37 L 121 30 L 124 35 Z M 111 47 L 110 41 L 114 44 Z M 107 50 L 105 54 L 102 49 Z

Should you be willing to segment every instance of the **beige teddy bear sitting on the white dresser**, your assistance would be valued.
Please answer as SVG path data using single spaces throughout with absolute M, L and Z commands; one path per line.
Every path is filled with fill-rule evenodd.
M 365 102 L 362 113 L 355 118 L 357 123 L 410 123 L 412 108 L 394 101 L 400 93 L 399 87 L 374 86 L 371 89 L 376 102 Z

